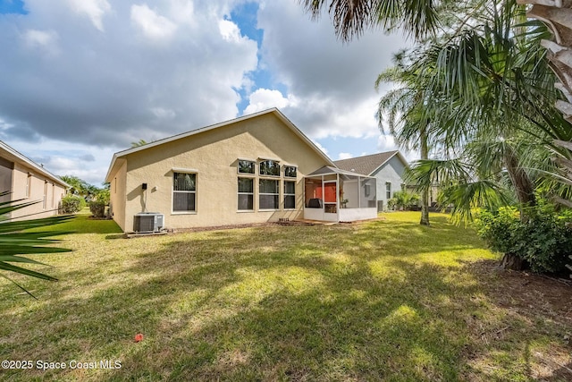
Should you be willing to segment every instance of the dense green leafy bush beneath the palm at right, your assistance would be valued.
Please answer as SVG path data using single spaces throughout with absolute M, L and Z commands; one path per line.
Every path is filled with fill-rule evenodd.
M 526 209 L 521 221 L 516 208 L 500 208 L 497 213 L 476 215 L 477 233 L 492 250 L 526 260 L 538 273 L 559 273 L 572 255 L 572 229 L 569 213 L 559 213 L 547 203 Z

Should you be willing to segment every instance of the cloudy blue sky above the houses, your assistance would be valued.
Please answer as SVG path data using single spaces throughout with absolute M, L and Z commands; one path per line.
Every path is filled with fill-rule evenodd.
M 131 142 L 270 107 L 333 160 L 398 149 L 374 81 L 406 44 L 298 0 L 0 0 L 0 140 L 97 186 Z

